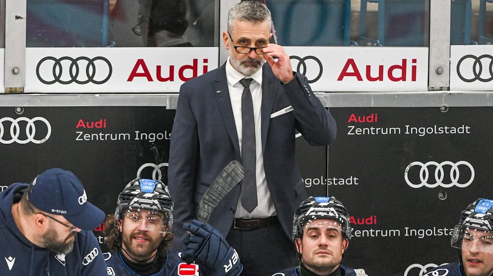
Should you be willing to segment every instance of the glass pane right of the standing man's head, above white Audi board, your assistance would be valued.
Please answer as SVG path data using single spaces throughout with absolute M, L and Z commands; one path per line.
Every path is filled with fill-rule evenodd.
M 427 46 L 429 0 L 265 0 L 285 46 Z

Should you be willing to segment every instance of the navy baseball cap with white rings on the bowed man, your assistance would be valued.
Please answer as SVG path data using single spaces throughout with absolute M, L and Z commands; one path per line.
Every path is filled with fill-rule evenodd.
M 35 207 L 63 215 L 77 228 L 93 230 L 105 219 L 105 213 L 87 201 L 82 183 L 70 171 L 49 169 L 36 176 L 28 192 L 28 200 Z

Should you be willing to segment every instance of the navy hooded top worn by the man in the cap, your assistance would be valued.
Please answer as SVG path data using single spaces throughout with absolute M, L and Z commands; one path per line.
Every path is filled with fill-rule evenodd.
M 14 183 L 0 193 L 0 275 L 105 276 L 105 260 L 91 231 L 75 234 L 73 250 L 67 254 L 51 252 L 24 237 L 12 217 L 12 204 L 27 187 Z

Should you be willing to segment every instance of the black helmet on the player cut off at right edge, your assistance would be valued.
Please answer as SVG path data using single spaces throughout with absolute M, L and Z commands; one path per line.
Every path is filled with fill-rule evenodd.
M 464 242 L 493 238 L 493 200 L 479 198 L 460 213 L 458 224 L 454 227 L 451 246 L 462 248 Z M 493 245 L 481 245 L 480 251 L 493 253 Z

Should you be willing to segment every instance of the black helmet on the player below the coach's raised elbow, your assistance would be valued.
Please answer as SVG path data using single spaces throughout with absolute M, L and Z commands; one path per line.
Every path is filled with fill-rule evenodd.
M 316 219 L 331 219 L 336 221 L 337 226 L 347 239 L 351 239 L 351 225 L 349 223 L 349 213 L 346 207 L 335 197 L 309 197 L 303 201 L 296 210 L 293 219 L 292 238 L 301 238 L 303 229 L 307 222 Z

